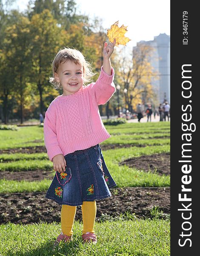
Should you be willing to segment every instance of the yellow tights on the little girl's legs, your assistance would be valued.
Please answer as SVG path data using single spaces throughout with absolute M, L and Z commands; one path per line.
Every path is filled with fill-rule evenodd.
M 64 235 L 72 236 L 73 224 L 76 214 L 76 206 L 62 205 L 61 209 L 61 230 Z M 83 230 L 82 233 L 94 233 L 94 222 L 96 218 L 97 205 L 96 201 L 84 201 L 81 205 L 83 215 Z

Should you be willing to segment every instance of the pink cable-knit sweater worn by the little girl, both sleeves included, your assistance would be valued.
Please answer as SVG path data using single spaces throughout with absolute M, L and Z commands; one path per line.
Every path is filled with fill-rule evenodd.
M 49 105 L 44 119 L 44 142 L 49 159 L 57 154 L 89 148 L 108 139 L 98 105 L 109 101 L 115 92 L 114 69 L 109 76 L 101 67 L 95 83 L 82 86 L 68 96 L 57 96 Z

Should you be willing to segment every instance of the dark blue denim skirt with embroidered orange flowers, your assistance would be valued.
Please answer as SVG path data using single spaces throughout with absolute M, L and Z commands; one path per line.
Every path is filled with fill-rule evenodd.
M 103 158 L 100 145 L 77 150 L 64 156 L 66 171 L 56 172 L 46 198 L 57 204 L 82 205 L 111 196 L 116 186 Z

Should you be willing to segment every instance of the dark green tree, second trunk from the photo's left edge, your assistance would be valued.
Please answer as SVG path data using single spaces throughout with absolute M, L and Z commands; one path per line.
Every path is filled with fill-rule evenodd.
M 19 17 L 17 22 L 6 28 L 5 49 L 6 62 L 13 76 L 12 85 L 15 89 L 15 97 L 20 102 L 20 118 L 23 123 L 24 95 L 26 83 L 29 81 L 31 71 L 31 45 L 29 35 L 29 19 Z

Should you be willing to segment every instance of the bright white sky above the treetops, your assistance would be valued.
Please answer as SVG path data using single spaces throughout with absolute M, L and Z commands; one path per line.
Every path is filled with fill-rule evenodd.
M 16 0 L 14 6 L 26 9 L 29 0 Z M 127 27 L 128 47 L 139 41 L 154 40 L 160 33 L 170 35 L 170 0 L 75 0 L 78 13 L 91 19 L 100 17 L 103 27 L 109 29 L 119 20 L 119 26 Z

